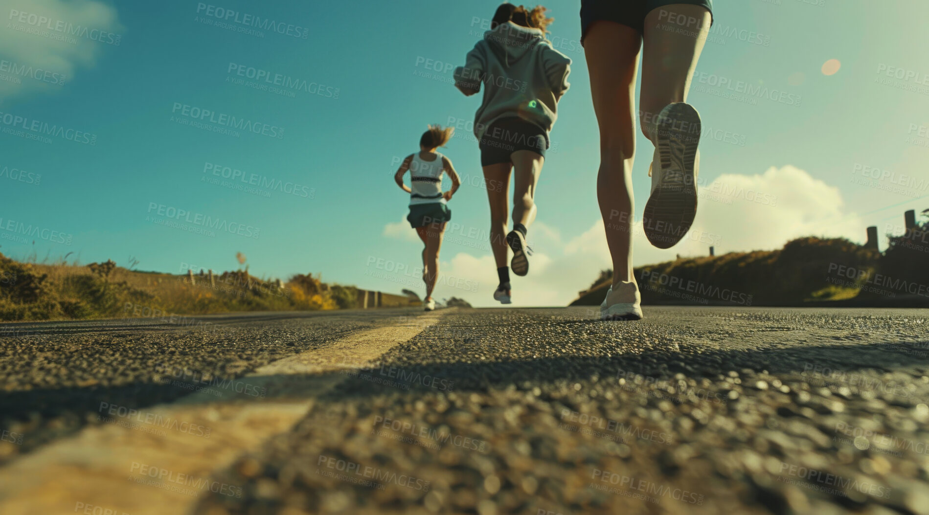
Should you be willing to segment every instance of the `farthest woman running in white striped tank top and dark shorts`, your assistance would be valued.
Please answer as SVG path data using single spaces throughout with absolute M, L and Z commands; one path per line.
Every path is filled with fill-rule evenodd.
M 400 164 L 394 181 L 403 191 L 410 194 L 410 214 L 407 220 L 423 240 L 423 282 L 425 282 L 425 311 L 436 309 L 432 290 L 438 278 L 438 250 L 442 246 L 445 224 L 451 220 L 451 210 L 446 205 L 462 181 L 455 172 L 449 158 L 439 154 L 436 148 L 445 147 L 454 129 L 429 125 L 429 130 L 419 139 L 419 152 L 407 156 Z M 428 161 L 427 161 L 428 160 Z M 403 184 L 403 175 L 410 171 L 410 185 Z M 451 189 L 442 193 L 442 176 L 448 173 Z

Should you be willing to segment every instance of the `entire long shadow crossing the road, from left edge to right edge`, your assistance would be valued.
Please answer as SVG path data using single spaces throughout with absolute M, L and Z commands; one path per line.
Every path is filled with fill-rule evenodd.
M 639 377 L 641 381 L 669 380 L 677 373 L 688 378 L 718 380 L 728 370 L 751 368 L 773 375 L 803 374 L 813 387 L 830 384 L 858 389 L 883 389 L 884 372 L 929 366 L 929 341 L 896 345 L 836 344 L 791 346 L 764 350 L 702 351 L 700 353 L 636 353 L 611 356 L 563 356 L 491 362 L 453 362 L 411 365 L 415 352 L 401 345 L 386 354 L 375 367 L 333 372 L 322 376 L 271 376 L 218 379 L 216 381 L 174 384 L 136 382 L 118 387 L 33 389 L 4 395 L 4 417 L 0 429 L 9 429 L 14 421 L 27 421 L 38 412 L 44 418 L 61 418 L 53 431 L 31 435 L 22 453 L 61 436 L 79 430 L 87 423 L 106 417 L 106 405 L 143 410 L 148 406 L 175 401 L 193 389 L 207 388 L 218 395 L 198 394 L 185 398 L 183 404 L 223 404 L 231 402 L 273 402 L 276 399 L 317 395 L 319 385 L 334 376 L 347 376 L 322 398 L 327 403 L 362 400 L 405 392 L 461 393 L 503 388 L 509 384 L 590 380 L 617 380 Z M 400 360 L 399 358 L 402 358 Z M 186 384 L 186 386 L 185 386 Z M 268 387 L 264 397 L 245 394 L 245 385 Z M 902 386 L 890 383 L 891 386 Z M 212 387 L 212 388 L 211 388 Z M 103 403 L 103 404 L 101 404 Z M 103 407 L 101 407 L 103 406 Z

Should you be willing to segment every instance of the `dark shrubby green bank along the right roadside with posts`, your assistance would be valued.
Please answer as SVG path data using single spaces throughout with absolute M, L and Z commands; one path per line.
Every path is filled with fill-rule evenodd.
M 681 258 L 635 269 L 642 302 L 694 305 L 929 307 L 929 223 L 890 238 L 883 253 L 844 238 L 798 238 L 779 251 Z M 598 305 L 601 272 L 571 305 Z

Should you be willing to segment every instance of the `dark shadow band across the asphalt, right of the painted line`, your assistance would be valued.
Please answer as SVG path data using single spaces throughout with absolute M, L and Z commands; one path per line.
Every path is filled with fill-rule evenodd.
M 341 383 L 327 400 L 383 394 L 387 390 L 469 391 L 502 388 L 522 382 L 575 381 L 592 378 L 718 380 L 729 370 L 750 368 L 772 375 L 802 374 L 812 387 L 830 384 L 882 388 L 880 375 L 911 367 L 929 367 L 929 340 L 895 345 L 833 344 L 791 346 L 763 350 L 710 350 L 700 353 L 613 354 L 564 356 L 491 362 L 454 362 L 411 365 L 408 352 L 395 350 L 378 367 L 360 371 Z M 402 356 L 403 360 L 391 359 Z M 876 383 L 877 381 L 877 383 Z M 392 383 L 385 387 L 384 383 Z M 448 388 L 448 385 L 452 385 Z

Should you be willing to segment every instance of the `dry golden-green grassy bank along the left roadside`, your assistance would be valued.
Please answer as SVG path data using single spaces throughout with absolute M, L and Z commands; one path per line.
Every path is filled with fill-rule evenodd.
M 0 254 L 0 320 L 205 315 L 352 308 L 354 287 L 305 275 L 276 282 L 246 271 L 214 277 L 138 272 L 103 264 L 25 264 Z

